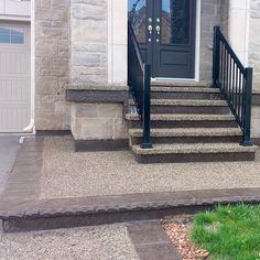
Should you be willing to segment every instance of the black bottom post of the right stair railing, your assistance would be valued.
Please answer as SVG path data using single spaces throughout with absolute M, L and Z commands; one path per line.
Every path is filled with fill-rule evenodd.
M 251 104 L 252 104 L 252 68 L 246 68 L 246 89 L 245 89 L 245 99 L 243 99 L 243 109 L 245 109 L 245 126 L 242 133 L 241 145 L 251 147 Z

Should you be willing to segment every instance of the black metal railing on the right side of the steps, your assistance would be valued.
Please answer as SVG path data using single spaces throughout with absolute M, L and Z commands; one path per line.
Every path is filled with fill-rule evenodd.
M 252 145 L 250 137 L 252 68 L 243 67 L 219 26 L 214 28 L 213 87 L 220 88 L 242 130 L 241 145 Z

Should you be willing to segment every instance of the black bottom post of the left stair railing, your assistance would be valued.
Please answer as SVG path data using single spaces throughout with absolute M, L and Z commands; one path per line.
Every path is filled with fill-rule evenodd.
M 151 66 L 144 65 L 144 77 L 143 77 L 143 140 L 141 143 L 142 149 L 151 149 Z

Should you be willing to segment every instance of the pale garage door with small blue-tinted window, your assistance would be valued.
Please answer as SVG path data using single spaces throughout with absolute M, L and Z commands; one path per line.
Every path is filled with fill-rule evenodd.
M 23 132 L 31 111 L 30 24 L 0 22 L 0 132 Z

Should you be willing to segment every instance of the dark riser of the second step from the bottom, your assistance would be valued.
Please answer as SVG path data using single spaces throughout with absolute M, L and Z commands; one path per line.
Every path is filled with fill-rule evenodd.
M 241 137 L 177 137 L 177 138 L 151 138 L 152 143 L 239 143 Z M 142 138 L 131 138 L 131 144 L 139 144 Z

